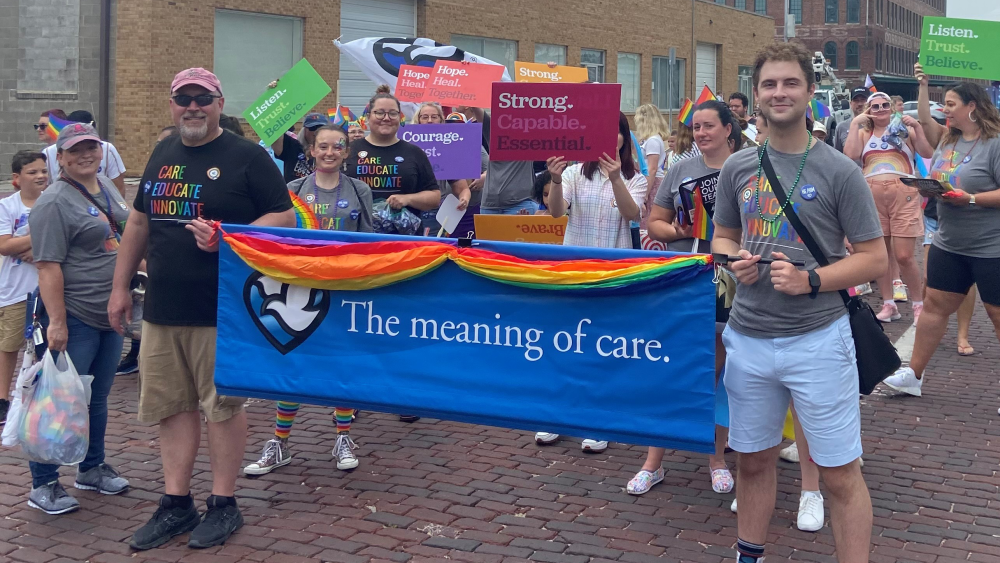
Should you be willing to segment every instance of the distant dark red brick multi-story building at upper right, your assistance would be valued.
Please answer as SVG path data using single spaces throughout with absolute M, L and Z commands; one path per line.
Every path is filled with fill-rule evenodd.
M 785 0 L 717 0 L 720 4 L 766 13 L 775 20 L 775 39 L 784 36 Z M 889 94 L 917 97 L 913 64 L 920 50 L 924 16 L 944 16 L 947 0 L 787 0 L 796 17 L 795 41 L 821 52 L 849 87 L 865 75 Z M 933 77 L 931 97 L 953 79 Z

